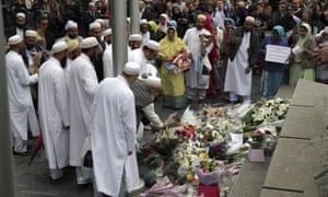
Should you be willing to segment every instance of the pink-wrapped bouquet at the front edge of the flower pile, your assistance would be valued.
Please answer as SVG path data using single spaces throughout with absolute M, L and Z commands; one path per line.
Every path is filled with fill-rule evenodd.
M 218 184 L 224 175 L 224 165 L 216 160 L 195 160 L 194 166 L 199 182 L 203 185 Z

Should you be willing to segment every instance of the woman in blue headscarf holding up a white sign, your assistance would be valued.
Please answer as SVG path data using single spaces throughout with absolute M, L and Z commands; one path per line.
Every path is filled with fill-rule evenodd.
M 277 25 L 272 28 L 272 35 L 265 37 L 260 53 L 265 56 L 268 45 L 289 46 L 284 37 L 284 28 Z M 263 60 L 262 77 L 260 80 L 260 93 L 262 99 L 272 99 L 283 81 L 284 63 Z

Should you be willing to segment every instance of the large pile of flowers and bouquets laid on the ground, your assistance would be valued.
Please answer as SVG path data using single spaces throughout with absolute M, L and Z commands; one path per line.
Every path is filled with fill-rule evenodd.
M 172 185 L 184 186 L 179 188 L 185 195 L 197 194 L 202 184 L 216 185 L 220 196 L 226 196 L 250 149 L 274 150 L 277 128 L 282 126 L 289 105 L 290 100 L 274 99 L 247 105 L 204 105 L 199 111 L 187 108 L 179 126 L 155 134 L 153 142 L 142 146 L 139 163 L 152 169 L 150 177 L 155 176 L 157 182 L 165 177 L 166 183 L 169 179 Z M 145 196 L 152 194 L 152 186 L 159 186 L 157 182 L 148 184 Z

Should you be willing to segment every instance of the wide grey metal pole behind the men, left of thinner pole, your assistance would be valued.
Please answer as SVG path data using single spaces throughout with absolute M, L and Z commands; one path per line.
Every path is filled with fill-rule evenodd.
M 113 1 L 113 70 L 114 76 L 120 74 L 127 62 L 127 3 Z

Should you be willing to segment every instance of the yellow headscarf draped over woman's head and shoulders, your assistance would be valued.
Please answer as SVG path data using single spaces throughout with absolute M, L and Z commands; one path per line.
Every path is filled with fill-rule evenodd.
M 160 40 L 160 56 L 173 58 L 180 53 L 187 51 L 187 47 L 185 43 L 177 36 L 176 28 L 174 26 L 167 27 L 167 32 L 174 30 L 175 36 L 174 39 L 171 40 L 168 35 L 166 35 L 163 39 Z

